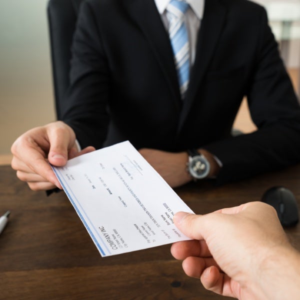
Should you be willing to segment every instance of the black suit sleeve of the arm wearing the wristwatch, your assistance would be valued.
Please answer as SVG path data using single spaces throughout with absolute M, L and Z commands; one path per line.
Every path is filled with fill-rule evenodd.
M 300 108 L 267 24 L 265 10 L 247 101 L 258 130 L 204 145 L 222 162 L 217 183 L 272 171 L 300 161 Z

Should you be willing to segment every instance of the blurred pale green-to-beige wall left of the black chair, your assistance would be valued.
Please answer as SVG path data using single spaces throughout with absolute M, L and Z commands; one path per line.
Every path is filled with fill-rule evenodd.
M 46 0 L 1 0 L 0 154 L 25 130 L 54 120 Z

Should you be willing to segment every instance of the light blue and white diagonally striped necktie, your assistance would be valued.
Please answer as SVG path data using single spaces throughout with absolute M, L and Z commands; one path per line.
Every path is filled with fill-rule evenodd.
M 181 98 L 184 98 L 189 80 L 189 43 L 184 23 L 184 12 L 188 7 L 188 3 L 180 0 L 171 0 L 166 7 Z

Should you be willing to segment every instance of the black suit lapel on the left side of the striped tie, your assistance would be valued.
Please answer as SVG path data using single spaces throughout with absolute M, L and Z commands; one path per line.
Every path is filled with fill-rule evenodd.
M 131 19 L 135 21 L 147 38 L 173 96 L 176 109 L 180 110 L 180 92 L 173 52 L 168 33 L 153 0 L 124 0 Z

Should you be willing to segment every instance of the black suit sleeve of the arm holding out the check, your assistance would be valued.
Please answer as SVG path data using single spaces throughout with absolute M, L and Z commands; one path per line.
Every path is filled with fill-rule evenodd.
M 96 21 L 88 3 L 82 3 L 73 36 L 70 87 L 62 103 L 62 120 L 73 128 L 81 147 L 99 148 L 109 122 L 109 71 Z

